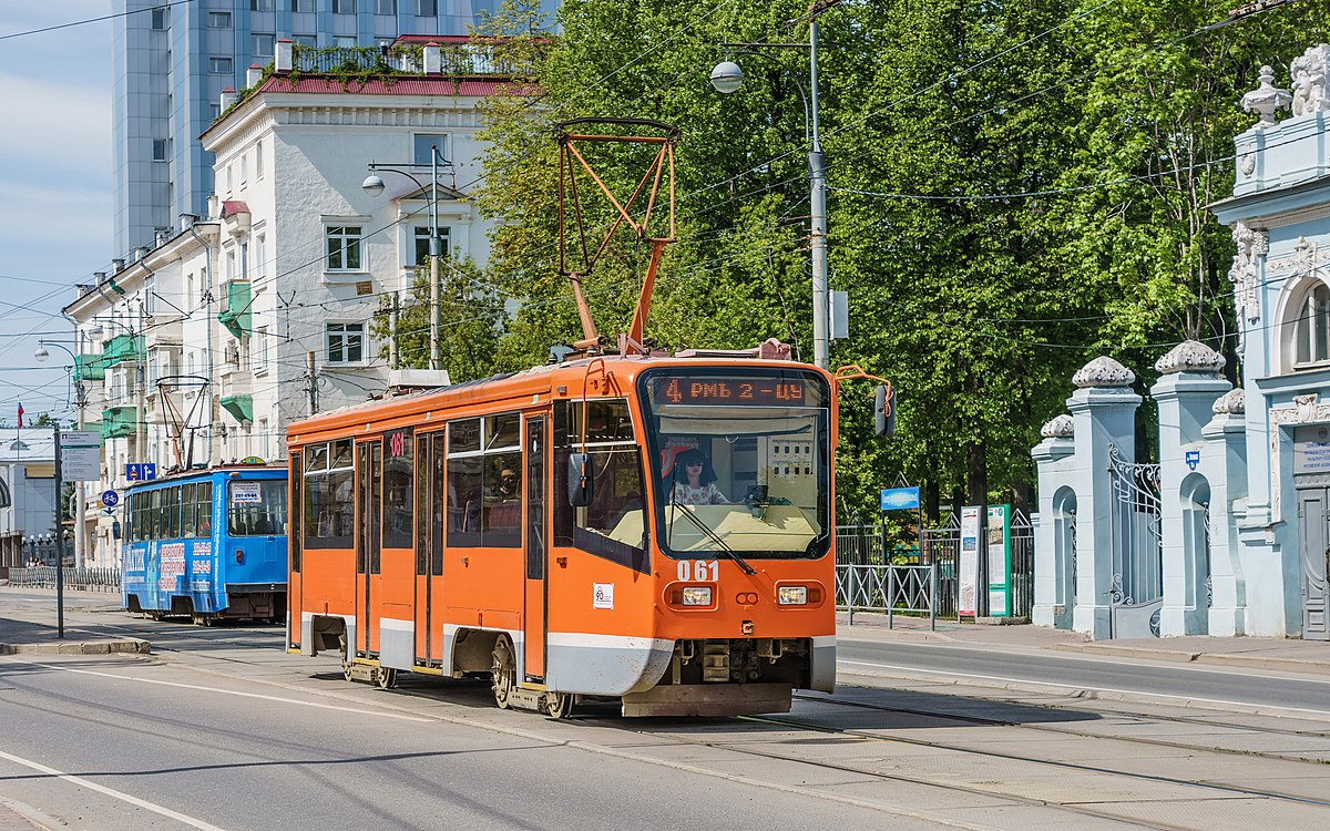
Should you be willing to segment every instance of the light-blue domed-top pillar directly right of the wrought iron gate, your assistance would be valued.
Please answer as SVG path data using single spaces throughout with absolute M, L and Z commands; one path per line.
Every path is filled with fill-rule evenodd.
M 1233 388 L 1220 375 L 1224 356 L 1198 340 L 1180 343 L 1160 358 L 1150 387 L 1160 414 L 1160 544 L 1164 606 L 1160 636 L 1209 630 L 1209 549 L 1205 508 L 1220 471 L 1202 464 L 1202 429 L 1214 400 Z

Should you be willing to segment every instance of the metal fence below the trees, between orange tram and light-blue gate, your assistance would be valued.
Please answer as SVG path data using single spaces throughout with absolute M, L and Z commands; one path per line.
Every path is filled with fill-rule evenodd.
M 920 544 L 888 544 L 884 525 L 838 525 L 837 606 L 851 612 L 928 613 L 956 620 L 960 597 L 960 519 L 924 528 Z M 887 553 L 890 550 L 890 554 Z M 927 572 L 927 585 L 918 572 Z M 1029 617 L 1035 601 L 1035 528 L 1020 511 L 1011 521 L 1012 616 Z

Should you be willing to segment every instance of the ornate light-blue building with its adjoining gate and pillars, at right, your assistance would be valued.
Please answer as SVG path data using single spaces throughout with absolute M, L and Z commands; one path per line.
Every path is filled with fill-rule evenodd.
M 1189 342 L 1160 359 L 1157 465 L 1134 464 L 1132 374 L 1100 358 L 1035 448 L 1035 621 L 1100 637 L 1330 640 L 1330 45 L 1244 106 L 1229 271 L 1240 379 Z M 1277 120 L 1281 110 L 1291 110 Z

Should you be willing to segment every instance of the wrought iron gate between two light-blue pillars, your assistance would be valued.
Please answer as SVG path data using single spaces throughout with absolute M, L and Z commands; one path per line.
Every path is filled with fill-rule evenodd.
M 1160 465 L 1133 464 L 1109 447 L 1113 479 L 1113 562 L 1109 637 L 1158 637 L 1164 605 Z

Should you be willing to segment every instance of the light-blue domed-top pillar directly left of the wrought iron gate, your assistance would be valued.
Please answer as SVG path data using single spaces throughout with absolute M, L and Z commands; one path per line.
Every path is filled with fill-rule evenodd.
M 1076 392 L 1067 399 L 1076 435 L 1076 608 L 1072 629 L 1096 640 L 1111 633 L 1109 589 L 1113 580 L 1113 481 L 1109 447 L 1124 459 L 1136 456 L 1136 374 L 1100 356 L 1072 376 Z

